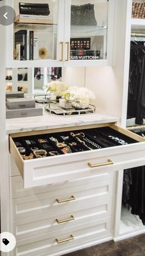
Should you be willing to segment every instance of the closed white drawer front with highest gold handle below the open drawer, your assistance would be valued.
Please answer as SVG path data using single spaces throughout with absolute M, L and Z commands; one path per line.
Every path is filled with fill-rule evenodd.
M 88 183 L 73 188 L 61 189 L 58 191 L 50 191 L 34 196 L 27 196 L 18 199 L 10 199 L 10 220 L 18 218 L 26 218 L 41 213 L 49 213 L 52 211 L 65 210 L 69 207 L 72 211 L 73 207 L 81 207 L 82 202 L 90 202 L 90 200 L 100 201 L 112 197 L 113 181 L 105 180 L 96 183 Z M 69 202 L 58 204 L 56 199 L 73 199 Z M 80 208 L 81 209 L 81 208 Z

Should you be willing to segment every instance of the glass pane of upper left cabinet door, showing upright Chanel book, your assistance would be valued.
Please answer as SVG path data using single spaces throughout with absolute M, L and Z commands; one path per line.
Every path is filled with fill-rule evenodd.
M 24 10 L 20 10 L 20 0 L 14 1 L 17 14 L 14 23 L 14 59 L 56 60 L 58 0 L 23 0 L 22 2 L 29 3 L 30 6 L 24 6 Z M 42 6 L 37 7 L 37 4 Z

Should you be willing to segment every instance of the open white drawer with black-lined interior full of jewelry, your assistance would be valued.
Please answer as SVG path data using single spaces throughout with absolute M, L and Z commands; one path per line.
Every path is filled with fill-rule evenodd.
M 89 136 L 93 136 L 95 132 L 100 134 L 100 131 L 103 131 L 102 138 L 94 135 L 97 142 L 94 144 L 92 139 L 93 150 L 90 150 L 88 139 L 93 137 Z M 41 158 L 23 160 L 22 155 L 18 151 L 18 145 L 16 146 L 15 144 L 17 139 L 25 138 L 26 141 L 29 141 L 34 136 L 44 138 L 44 136 L 53 135 L 51 138 L 55 139 L 54 137 L 58 138 L 58 134 L 63 134 L 61 137 L 64 139 L 67 137 L 64 136 L 66 133 L 72 134 L 72 141 L 69 145 L 72 145 L 73 140 L 76 141 L 78 139 L 79 143 L 82 141 L 83 146 L 87 145 L 87 149 L 82 152 L 73 152 L 72 154 L 62 154 L 61 152 L 60 155 L 44 155 Z M 88 134 L 88 137 L 86 135 L 85 138 L 85 134 Z M 108 147 L 101 148 L 99 145 L 101 141 L 105 141 L 106 136 L 108 136 L 110 144 Z M 99 140 L 100 142 L 98 142 Z M 23 177 L 24 188 L 33 188 L 35 186 L 92 176 L 101 170 L 117 171 L 123 168 L 145 165 L 145 139 L 110 123 L 10 134 L 9 141 L 10 154 L 12 154 Z M 39 141 L 42 142 L 44 139 L 39 139 Z M 57 141 L 58 145 L 63 144 L 61 146 L 65 144 L 64 141 L 59 143 L 59 139 L 55 139 L 55 141 Z M 76 142 L 73 143 L 75 144 Z M 112 146 L 113 143 L 114 146 Z M 98 149 L 94 149 L 94 147 L 98 147 Z

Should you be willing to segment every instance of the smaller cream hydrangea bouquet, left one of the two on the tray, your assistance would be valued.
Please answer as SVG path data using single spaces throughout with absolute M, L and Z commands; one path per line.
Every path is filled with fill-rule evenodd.
M 54 93 L 56 96 L 61 97 L 63 93 L 69 89 L 69 86 L 60 81 L 52 81 L 44 86 L 47 92 Z

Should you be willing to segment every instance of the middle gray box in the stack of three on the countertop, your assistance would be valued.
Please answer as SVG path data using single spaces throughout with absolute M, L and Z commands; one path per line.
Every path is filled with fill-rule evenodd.
M 35 100 L 29 98 L 7 99 L 7 107 L 9 109 L 26 109 L 35 107 Z

